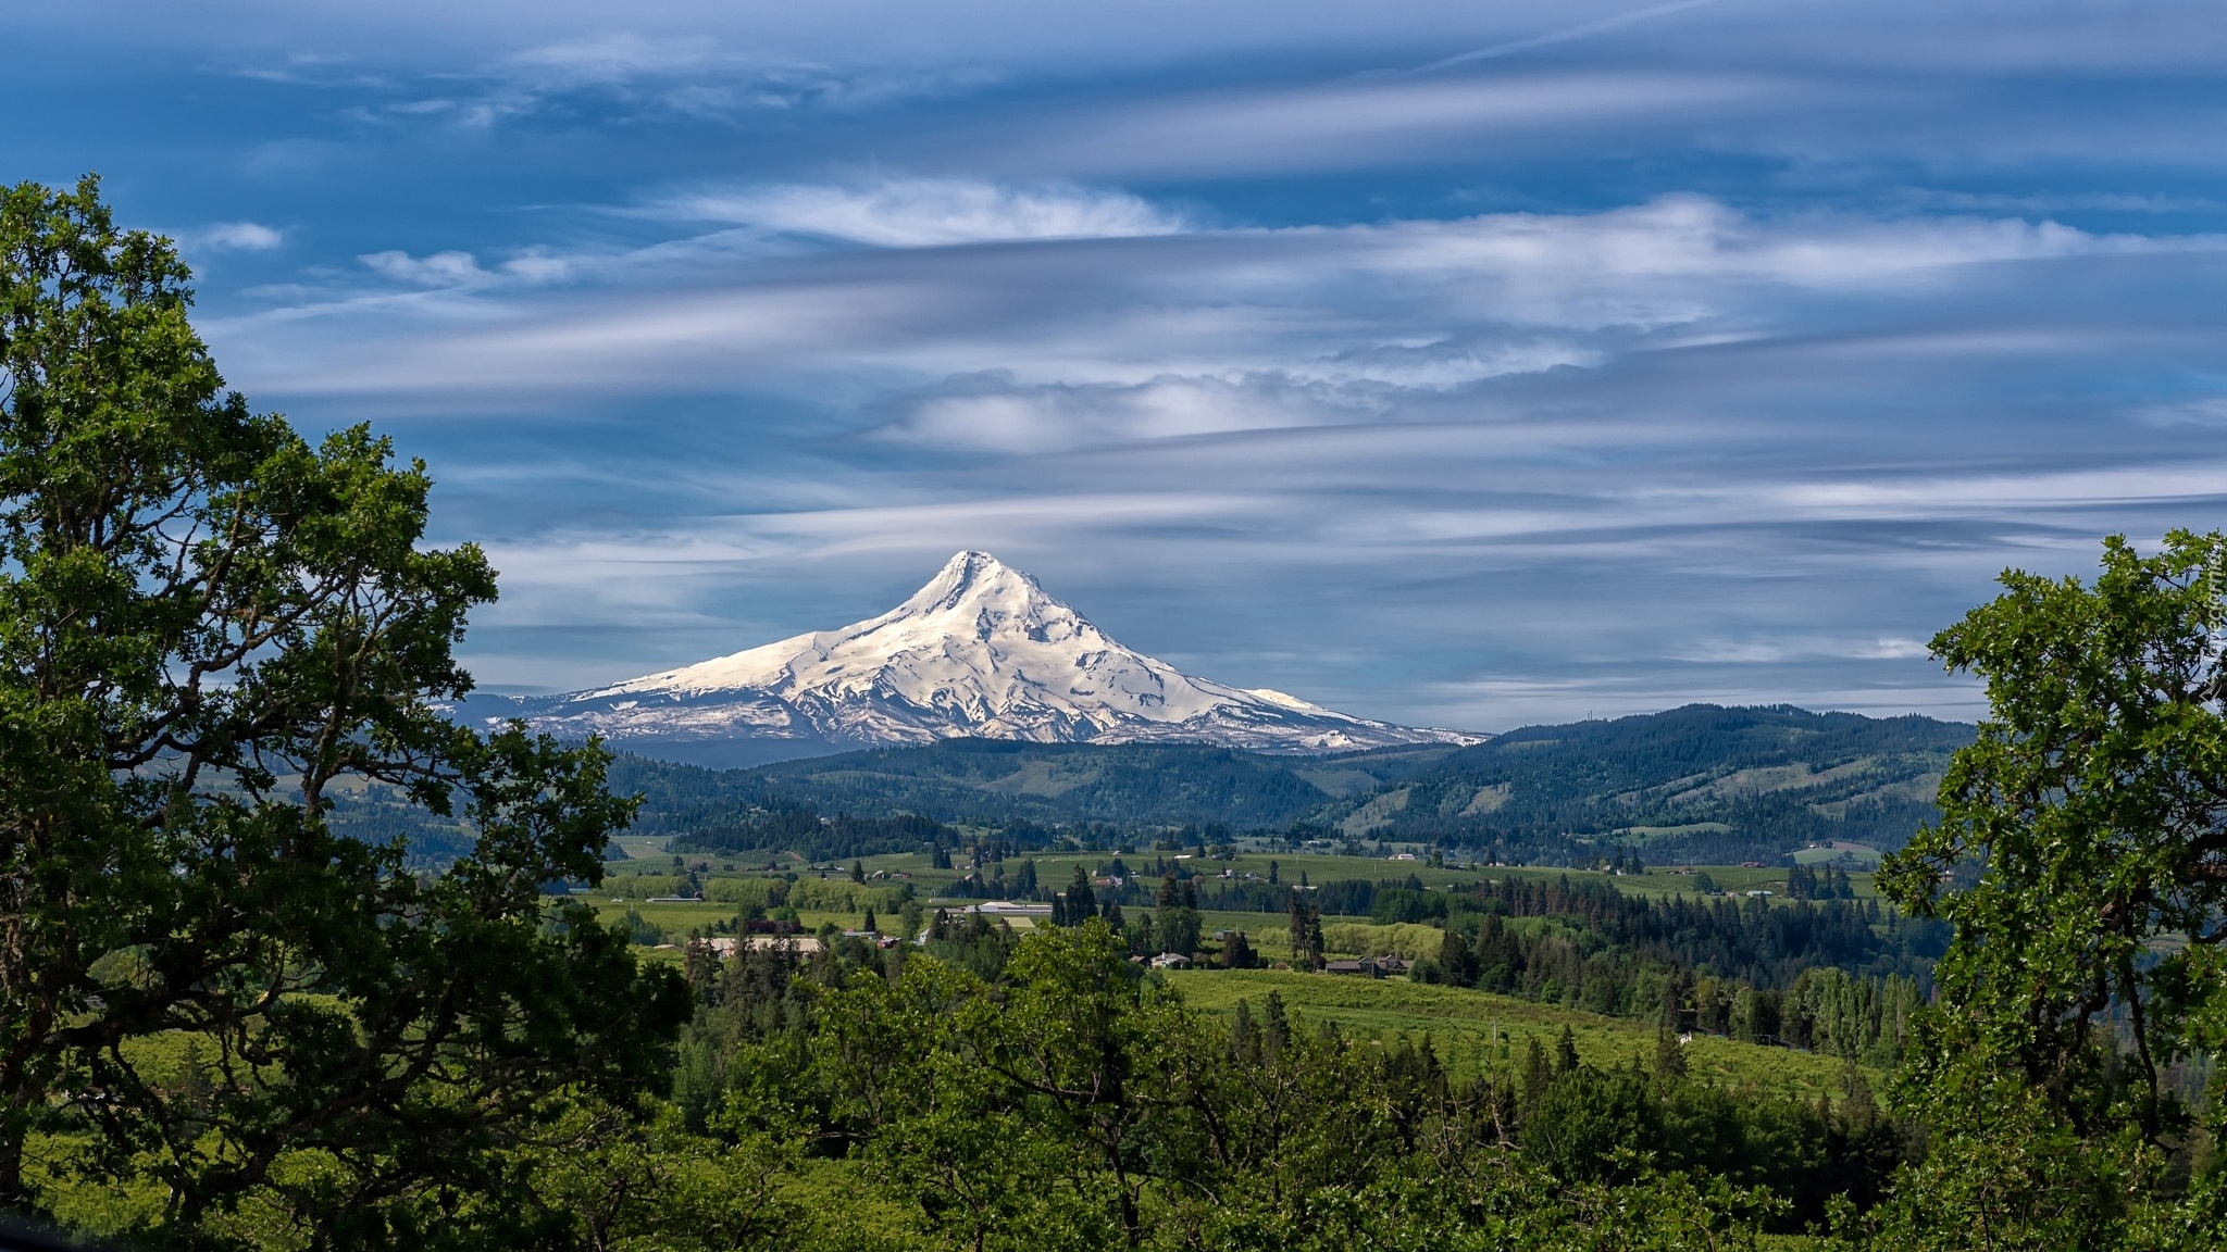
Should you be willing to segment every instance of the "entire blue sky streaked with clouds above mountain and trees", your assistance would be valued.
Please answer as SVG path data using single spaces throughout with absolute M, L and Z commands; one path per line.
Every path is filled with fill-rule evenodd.
M 2004 566 L 2227 515 L 2227 22 L 2176 2 L 49 4 L 0 178 L 432 463 L 481 682 L 958 548 L 1470 728 L 1971 717 Z

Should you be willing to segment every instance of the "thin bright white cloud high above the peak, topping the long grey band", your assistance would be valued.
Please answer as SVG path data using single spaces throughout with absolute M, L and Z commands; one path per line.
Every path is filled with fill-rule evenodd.
M 1062 185 L 1007 187 L 967 178 L 886 178 L 866 185 L 784 183 L 679 196 L 661 203 L 657 212 L 873 247 L 1134 238 L 1185 229 L 1180 216 L 1120 192 Z

